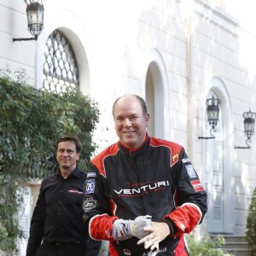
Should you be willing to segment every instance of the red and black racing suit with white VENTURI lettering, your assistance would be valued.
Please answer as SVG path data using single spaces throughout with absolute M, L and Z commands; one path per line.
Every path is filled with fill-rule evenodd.
M 115 219 L 148 214 L 154 222 L 166 221 L 171 230 L 157 255 L 189 255 L 183 234 L 201 223 L 207 194 L 182 146 L 147 134 L 141 148 L 131 150 L 119 141 L 90 164 L 83 208 L 84 228 L 92 239 L 110 241 L 112 256 L 148 255 L 136 237 L 113 239 Z

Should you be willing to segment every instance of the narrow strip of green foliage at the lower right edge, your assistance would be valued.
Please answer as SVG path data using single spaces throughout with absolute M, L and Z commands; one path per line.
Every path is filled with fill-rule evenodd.
M 256 188 L 253 191 L 252 201 L 247 216 L 247 242 L 251 255 L 256 255 Z

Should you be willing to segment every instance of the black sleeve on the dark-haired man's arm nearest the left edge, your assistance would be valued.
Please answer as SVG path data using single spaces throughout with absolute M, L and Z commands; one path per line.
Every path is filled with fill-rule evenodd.
M 44 234 L 45 203 L 42 186 L 38 201 L 32 214 L 29 239 L 26 246 L 26 256 L 35 256 Z

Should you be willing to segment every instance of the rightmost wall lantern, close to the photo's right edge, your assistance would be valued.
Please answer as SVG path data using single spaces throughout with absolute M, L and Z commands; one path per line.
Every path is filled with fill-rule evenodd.
M 244 133 L 247 137 L 247 140 L 246 140 L 247 147 L 235 147 L 235 148 L 251 148 L 248 143 L 252 142 L 251 137 L 253 136 L 253 133 L 254 133 L 256 113 L 251 112 L 251 110 L 249 110 L 249 112 L 243 113 L 242 116 L 244 118 L 243 124 L 244 124 Z

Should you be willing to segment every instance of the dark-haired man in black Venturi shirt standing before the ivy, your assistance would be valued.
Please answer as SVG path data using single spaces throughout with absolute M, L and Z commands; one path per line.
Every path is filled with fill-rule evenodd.
M 101 241 L 86 238 L 83 228 L 83 184 L 79 170 L 78 137 L 61 137 L 56 143 L 58 172 L 41 184 L 32 215 L 26 256 L 96 256 Z M 42 242 L 43 241 L 43 242 Z

